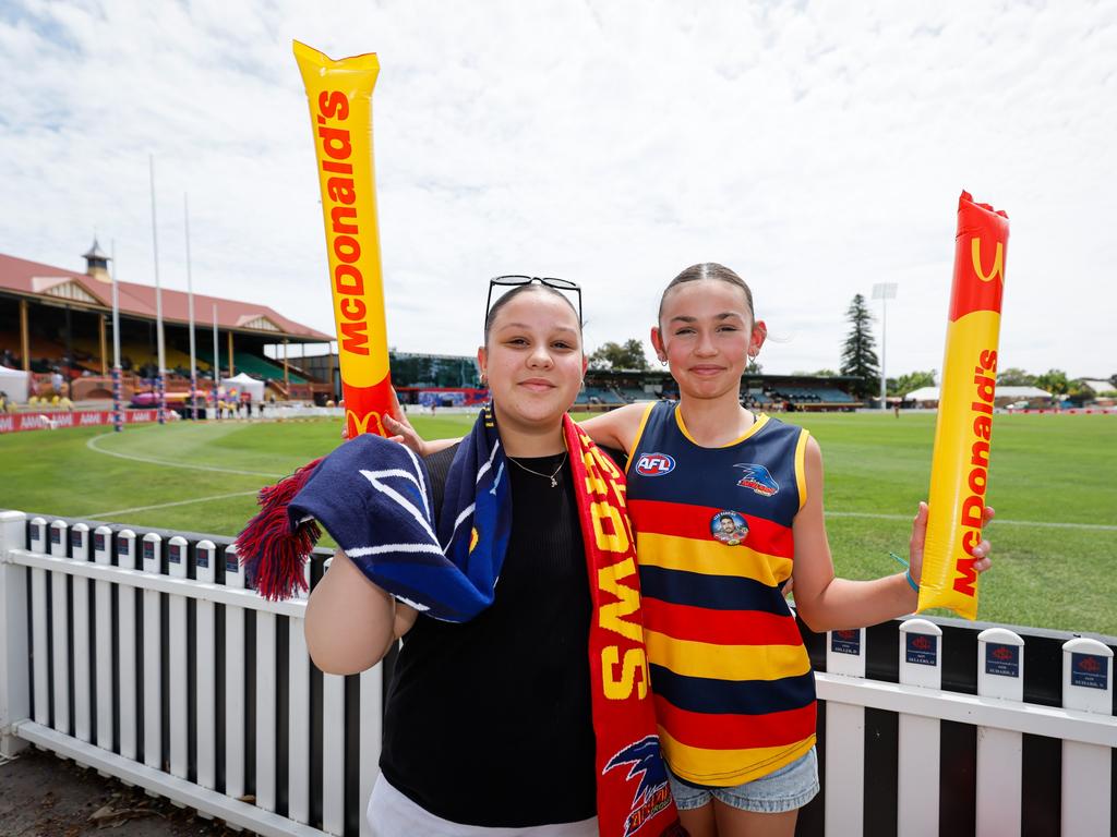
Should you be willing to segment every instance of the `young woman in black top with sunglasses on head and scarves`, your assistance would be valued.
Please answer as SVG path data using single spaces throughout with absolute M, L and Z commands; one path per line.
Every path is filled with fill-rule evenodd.
M 630 694 L 615 693 L 622 666 L 610 664 L 598 629 L 598 580 L 615 589 L 624 579 L 595 546 L 602 530 L 584 487 L 596 485 L 594 504 L 620 521 L 622 489 L 607 483 L 623 478 L 566 416 L 586 359 L 581 315 L 560 290 L 577 292 L 579 307 L 580 291 L 563 280 L 508 277 L 490 283 L 490 297 L 505 285 L 514 287 L 488 310 L 477 354 L 490 408 L 465 440 L 427 456 L 426 468 L 408 477 L 420 483 L 429 477 L 447 558 L 455 559 L 461 541 L 456 565 L 476 580 L 477 565 L 494 556 L 487 587 L 479 585 L 487 606 L 468 620 L 430 618 L 397 602 L 416 602 L 410 590 L 393 597 L 370 580 L 378 578 L 376 555 L 398 546 L 384 541 L 399 538 L 386 533 L 391 521 L 364 527 L 353 519 L 375 517 L 370 509 L 394 490 L 390 482 L 401 469 L 384 468 L 383 456 L 395 455 L 390 449 L 411 454 L 362 436 L 324 460 L 292 502 L 293 513 L 319 520 L 342 547 L 311 595 L 307 646 L 323 671 L 349 674 L 374 665 L 403 636 L 367 810 L 374 834 L 620 837 L 637 810 L 649 835 L 674 834 L 647 682 L 630 680 Z M 332 478 L 346 480 L 355 468 L 362 478 L 344 484 Z M 615 541 L 626 531 L 627 522 L 608 533 Z M 351 546 L 357 543 L 372 546 Z M 638 607 L 637 598 L 636 618 Z M 626 663 L 630 655 L 643 660 L 639 629 L 632 631 L 619 657 Z M 599 700 L 610 689 L 611 698 L 628 700 L 615 706 Z M 626 729 L 631 738 L 608 743 Z M 632 758 L 623 754 L 629 750 Z M 641 775 L 626 787 L 639 760 Z

